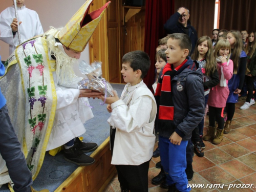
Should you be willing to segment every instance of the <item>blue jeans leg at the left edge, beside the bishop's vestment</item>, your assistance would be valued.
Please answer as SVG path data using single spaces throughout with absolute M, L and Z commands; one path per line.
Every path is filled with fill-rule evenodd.
M 30 192 L 31 172 L 14 132 L 7 106 L 0 109 L 0 154 L 6 161 L 15 192 Z

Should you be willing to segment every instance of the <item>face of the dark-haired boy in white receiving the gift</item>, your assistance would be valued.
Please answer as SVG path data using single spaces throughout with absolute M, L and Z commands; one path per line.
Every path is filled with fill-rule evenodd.
M 131 83 L 132 86 L 137 83 L 137 76 L 136 76 L 137 70 L 133 71 L 133 68 L 131 68 L 130 63 L 123 63 L 122 64 L 122 70 L 121 74 L 123 75 L 123 80 L 126 83 Z

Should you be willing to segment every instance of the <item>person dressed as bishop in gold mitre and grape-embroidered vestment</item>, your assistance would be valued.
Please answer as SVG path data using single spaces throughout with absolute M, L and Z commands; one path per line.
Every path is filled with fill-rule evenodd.
M 95 162 L 84 153 L 96 150 L 97 143 L 82 142 L 78 136 L 86 132 L 84 123 L 93 117 L 87 97 L 103 94 L 76 89 L 82 78 L 73 71 L 110 4 L 89 13 L 92 2 L 86 1 L 62 29 L 51 27 L 18 46 L 0 77 L 10 121 L 33 180 L 46 151 L 62 145 L 65 160 L 83 166 Z M 0 184 L 1 169 L 0 163 Z

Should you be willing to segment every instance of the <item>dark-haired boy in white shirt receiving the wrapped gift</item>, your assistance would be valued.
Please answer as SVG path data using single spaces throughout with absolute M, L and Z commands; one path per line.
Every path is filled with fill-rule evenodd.
M 126 53 L 121 73 L 127 84 L 121 98 L 114 93 L 105 101 L 112 112 L 108 119 L 112 126 L 111 164 L 116 166 L 121 191 L 148 191 L 147 174 L 155 144 L 157 113 L 155 98 L 142 80 L 148 69 L 150 58 L 145 52 Z

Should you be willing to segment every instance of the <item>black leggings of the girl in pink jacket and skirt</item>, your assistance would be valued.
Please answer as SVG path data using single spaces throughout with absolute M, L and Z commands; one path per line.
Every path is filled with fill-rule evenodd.
M 214 106 L 209 106 L 209 125 L 215 127 L 215 121 L 218 122 L 218 129 L 224 129 L 224 108 L 215 108 Z

